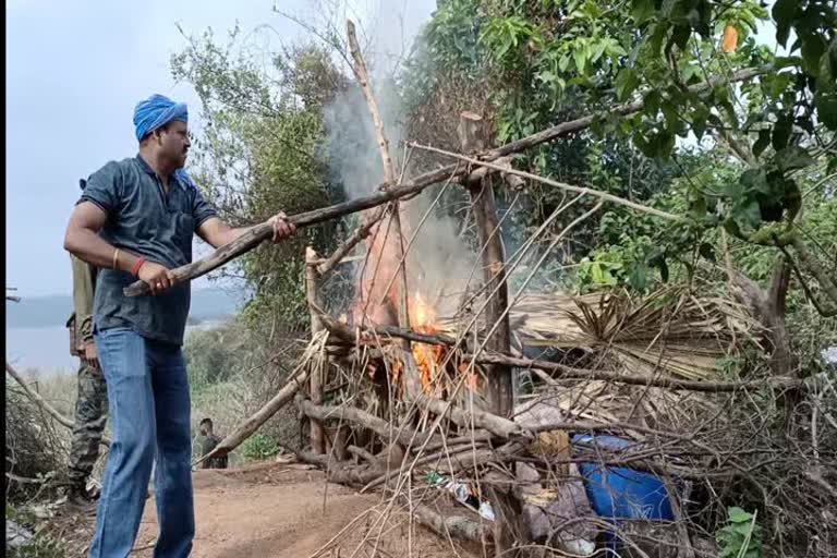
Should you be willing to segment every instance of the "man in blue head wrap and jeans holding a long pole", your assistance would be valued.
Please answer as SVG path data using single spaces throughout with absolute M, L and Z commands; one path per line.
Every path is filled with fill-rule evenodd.
M 99 268 L 94 339 L 105 372 L 113 439 L 90 557 L 126 557 L 156 458 L 156 557 L 186 557 L 194 538 L 189 381 L 181 347 L 189 283 L 172 268 L 192 260 L 196 232 L 218 247 L 246 232 L 221 221 L 182 170 L 191 146 L 184 104 L 161 95 L 134 111 L 136 157 L 111 161 L 87 180 L 64 248 Z M 279 214 L 274 242 L 294 233 Z M 134 280 L 153 295 L 128 298 Z M 156 450 L 156 453 L 155 453 Z

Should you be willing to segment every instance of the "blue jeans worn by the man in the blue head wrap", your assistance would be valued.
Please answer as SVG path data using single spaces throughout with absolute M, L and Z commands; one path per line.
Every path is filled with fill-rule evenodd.
M 156 457 L 160 534 L 156 558 L 189 556 L 195 535 L 189 379 L 180 345 L 130 328 L 97 331 L 108 386 L 110 446 L 90 558 L 124 558 L 134 546 Z

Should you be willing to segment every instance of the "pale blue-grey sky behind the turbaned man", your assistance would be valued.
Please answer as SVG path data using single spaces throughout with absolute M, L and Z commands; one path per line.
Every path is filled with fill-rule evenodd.
M 267 24 L 277 40 L 302 38 L 305 31 L 274 13 L 275 3 L 303 17 L 315 8 L 311 0 L 7 0 L 7 287 L 24 298 L 72 292 L 62 243 L 78 179 L 136 154 L 137 101 L 160 93 L 189 102 L 199 136 L 197 95 L 171 77 L 170 57 L 186 45 L 177 24 L 194 35 L 211 27 L 220 41 L 236 21 L 244 33 Z M 361 26 L 392 5 L 407 7 L 417 25 L 435 2 L 351 4 Z

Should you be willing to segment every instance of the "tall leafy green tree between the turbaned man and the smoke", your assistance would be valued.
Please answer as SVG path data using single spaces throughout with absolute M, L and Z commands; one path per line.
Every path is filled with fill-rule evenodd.
M 234 225 L 263 221 L 278 211 L 295 214 L 340 201 L 318 153 L 323 107 L 344 86 L 328 52 L 305 45 L 262 61 L 235 28 L 226 47 L 211 32 L 189 38 L 172 57 L 177 80 L 191 83 L 207 121 L 190 167 L 197 184 Z M 243 277 L 254 296 L 247 316 L 305 327 L 301 284 L 305 245 L 336 244 L 333 225 L 300 231 L 293 241 L 255 250 L 222 274 Z

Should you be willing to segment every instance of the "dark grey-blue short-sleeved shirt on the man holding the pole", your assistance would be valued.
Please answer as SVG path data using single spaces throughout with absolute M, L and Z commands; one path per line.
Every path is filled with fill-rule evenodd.
M 140 155 L 108 162 L 93 173 L 82 202 L 92 202 L 107 214 L 99 231 L 104 240 L 169 269 L 192 262 L 192 235 L 217 215 L 182 170 L 169 178 L 165 194 L 157 173 Z M 125 296 L 122 289 L 135 280 L 126 271 L 99 271 L 93 307 L 96 330 L 130 327 L 148 339 L 183 344 L 189 282 L 156 296 Z

